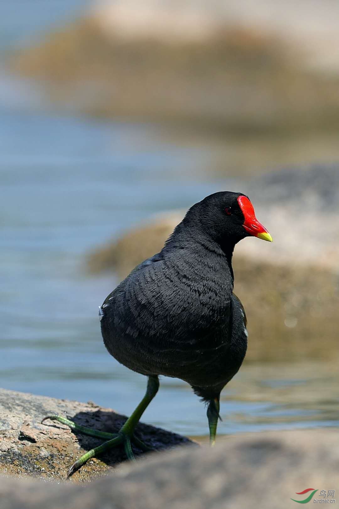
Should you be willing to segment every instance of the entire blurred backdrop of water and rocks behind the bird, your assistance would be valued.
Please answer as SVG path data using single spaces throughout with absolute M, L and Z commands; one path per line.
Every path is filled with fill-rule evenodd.
M 0 385 L 130 414 L 98 305 L 184 212 L 247 193 L 249 350 L 221 434 L 338 426 L 339 4 L 2 0 Z M 144 421 L 207 435 L 164 378 Z

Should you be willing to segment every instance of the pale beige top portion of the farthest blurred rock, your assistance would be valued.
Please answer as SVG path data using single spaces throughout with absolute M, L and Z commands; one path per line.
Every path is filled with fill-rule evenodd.
M 321 6 L 299 0 L 267 3 L 259 0 L 255 8 L 236 0 L 110 0 L 95 9 L 96 18 L 109 34 L 122 39 L 150 38 L 158 41 L 200 41 L 211 37 L 226 25 L 256 26 L 262 31 L 276 32 L 293 42 L 307 46 L 306 61 L 321 69 L 336 69 L 333 46 L 338 43 L 335 20 L 339 8 L 331 0 Z M 304 13 L 307 12 L 307 16 Z

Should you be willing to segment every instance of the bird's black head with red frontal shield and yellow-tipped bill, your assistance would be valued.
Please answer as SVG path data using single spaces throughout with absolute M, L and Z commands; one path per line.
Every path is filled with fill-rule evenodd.
M 221 246 L 234 246 L 249 236 L 272 242 L 272 237 L 256 218 L 249 197 L 243 193 L 210 194 L 191 207 L 186 220 L 199 223 L 200 231 Z

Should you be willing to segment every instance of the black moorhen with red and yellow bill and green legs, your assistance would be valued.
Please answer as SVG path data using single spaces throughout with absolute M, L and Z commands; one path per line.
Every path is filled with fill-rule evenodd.
M 147 377 L 140 404 L 116 434 L 84 428 L 60 416 L 48 418 L 106 441 L 88 451 L 68 477 L 88 459 L 124 445 L 148 450 L 134 435 L 142 413 L 159 389 L 159 376 L 191 385 L 207 405 L 210 445 L 220 418 L 220 393 L 245 357 L 245 310 L 233 293 L 234 247 L 245 237 L 272 242 L 246 194 L 220 191 L 193 205 L 163 249 L 143 261 L 99 307 L 104 344 L 121 364 Z

